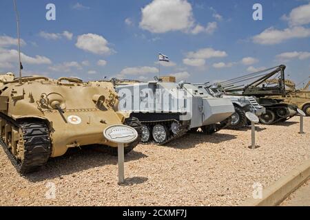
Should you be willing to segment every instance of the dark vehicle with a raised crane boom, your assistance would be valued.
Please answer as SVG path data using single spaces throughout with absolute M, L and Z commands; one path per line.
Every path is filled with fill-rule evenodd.
M 266 112 L 259 117 L 262 124 L 283 122 L 297 114 L 296 105 L 288 104 L 283 99 L 286 94 L 285 68 L 285 65 L 279 65 L 218 84 L 223 87 L 227 95 L 256 97 L 258 104 L 266 108 Z M 278 85 L 267 83 L 266 80 L 272 77 L 278 78 Z M 240 83 L 247 82 L 250 83 L 240 85 Z M 282 98 L 270 98 L 269 96 L 281 96 Z

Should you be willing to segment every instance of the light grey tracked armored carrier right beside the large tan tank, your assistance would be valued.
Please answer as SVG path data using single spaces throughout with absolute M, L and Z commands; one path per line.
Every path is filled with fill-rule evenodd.
M 230 124 L 234 105 L 189 83 L 165 77 L 147 83 L 116 85 L 118 108 L 142 124 L 142 142 L 166 144 L 187 133 L 211 134 Z

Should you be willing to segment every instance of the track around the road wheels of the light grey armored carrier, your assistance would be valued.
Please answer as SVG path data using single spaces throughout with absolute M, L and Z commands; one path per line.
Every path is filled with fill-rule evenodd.
M 164 124 L 165 126 L 167 126 L 169 128 L 171 126 L 172 122 L 178 122 L 179 123 L 178 120 L 143 121 L 141 123 L 145 124 L 147 126 L 154 126 L 156 124 Z M 183 124 L 180 127 L 180 130 L 178 131 L 178 133 L 169 132 L 169 137 L 167 138 L 167 140 L 165 140 L 165 142 L 163 142 L 163 143 L 156 143 L 154 141 L 151 141 L 151 142 L 147 142 L 147 143 L 143 143 L 143 144 L 152 143 L 152 144 L 157 144 L 159 146 L 162 146 L 162 145 L 165 145 L 165 144 L 167 144 L 169 142 L 172 142 L 173 140 L 176 140 L 178 137 L 182 137 L 183 135 L 185 135 L 187 133 L 188 129 L 189 129 L 189 125 Z

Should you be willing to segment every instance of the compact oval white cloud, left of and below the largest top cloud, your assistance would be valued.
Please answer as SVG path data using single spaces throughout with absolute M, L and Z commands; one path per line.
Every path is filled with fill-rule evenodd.
M 76 47 L 93 54 L 111 54 L 108 42 L 98 34 L 83 34 L 77 37 Z

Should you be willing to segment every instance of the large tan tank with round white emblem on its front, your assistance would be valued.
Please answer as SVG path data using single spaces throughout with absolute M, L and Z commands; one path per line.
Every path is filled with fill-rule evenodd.
M 117 110 L 112 83 L 44 76 L 23 77 L 19 83 L 5 77 L 10 76 L 0 78 L 1 145 L 20 173 L 35 170 L 68 148 L 100 144 L 116 154 L 117 145 L 103 137 L 112 124 L 127 124 L 141 133 L 136 118 Z M 125 153 L 138 142 L 125 145 Z

